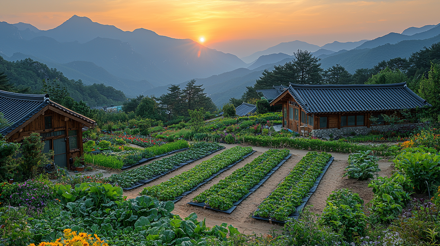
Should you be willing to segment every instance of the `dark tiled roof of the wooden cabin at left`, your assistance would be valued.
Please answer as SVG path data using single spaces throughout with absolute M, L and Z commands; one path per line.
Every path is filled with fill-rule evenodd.
M 4 114 L 4 118 L 7 119 L 8 123 L 10 123 L 10 126 L 0 129 L 0 134 L 7 135 L 15 128 L 25 123 L 33 115 L 40 112 L 40 110 L 47 105 L 52 105 L 58 109 L 61 109 L 64 112 L 70 113 L 72 116 L 91 123 L 92 125 L 95 124 L 94 120 L 88 119 L 85 116 L 82 116 L 49 100 L 48 94 L 18 94 L 0 90 L 0 112 Z

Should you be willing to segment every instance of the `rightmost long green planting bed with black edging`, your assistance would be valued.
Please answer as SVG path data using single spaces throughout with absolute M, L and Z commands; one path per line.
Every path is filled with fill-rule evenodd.
M 299 216 L 332 161 L 333 157 L 326 152 L 308 152 L 263 200 L 252 217 L 283 224 L 287 218 Z

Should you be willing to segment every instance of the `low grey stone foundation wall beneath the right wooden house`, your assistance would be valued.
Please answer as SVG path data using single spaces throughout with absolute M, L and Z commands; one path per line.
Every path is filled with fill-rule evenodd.
M 396 124 L 394 125 L 394 129 L 399 129 L 400 127 L 407 127 L 407 126 L 415 126 L 418 124 Z M 370 131 L 372 130 L 380 130 L 380 131 L 385 131 L 385 130 L 389 130 L 392 129 L 392 127 L 390 125 L 386 125 L 386 126 L 373 126 L 370 128 L 367 127 L 341 127 L 341 129 L 337 129 L 337 128 L 330 128 L 330 129 L 316 129 L 316 130 L 312 130 L 310 132 L 311 136 L 316 136 L 316 137 L 330 137 L 330 134 L 333 134 L 333 137 L 339 137 L 342 135 L 351 135 L 352 132 L 356 133 L 356 135 L 365 135 L 370 133 Z

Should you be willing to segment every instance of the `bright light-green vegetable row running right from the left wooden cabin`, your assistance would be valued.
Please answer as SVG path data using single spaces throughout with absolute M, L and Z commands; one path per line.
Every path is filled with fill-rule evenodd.
M 188 142 L 179 140 L 163 145 L 154 145 L 142 150 L 130 150 L 123 152 L 103 152 L 97 155 L 85 153 L 84 161 L 97 166 L 105 166 L 113 169 L 121 169 L 125 164 L 135 164 L 142 158 L 150 158 L 167 152 L 187 148 Z

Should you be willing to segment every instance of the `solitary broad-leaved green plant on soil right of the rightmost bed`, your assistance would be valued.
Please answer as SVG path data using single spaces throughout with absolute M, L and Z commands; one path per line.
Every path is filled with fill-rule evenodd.
M 349 165 L 342 177 L 356 178 L 359 181 L 372 179 L 380 171 L 379 158 L 371 155 L 371 151 L 359 151 L 348 156 Z

